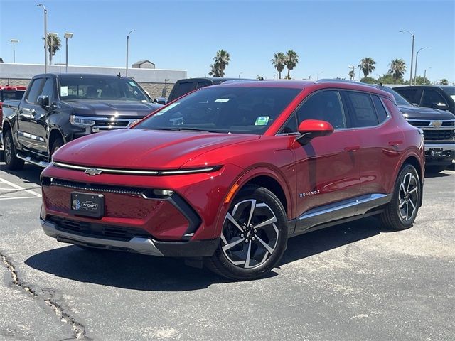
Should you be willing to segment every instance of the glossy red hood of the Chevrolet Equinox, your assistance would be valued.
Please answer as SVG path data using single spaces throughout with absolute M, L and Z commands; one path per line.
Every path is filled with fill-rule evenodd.
M 198 131 L 106 131 L 65 144 L 55 152 L 53 161 L 97 168 L 177 169 L 215 148 L 259 137 Z

